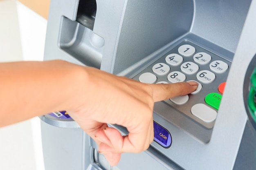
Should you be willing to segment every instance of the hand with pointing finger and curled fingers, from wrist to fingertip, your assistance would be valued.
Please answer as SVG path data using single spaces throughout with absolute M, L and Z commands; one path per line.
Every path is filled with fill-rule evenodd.
M 91 67 L 85 70 L 88 82 L 77 85 L 77 104 L 67 111 L 97 142 L 99 152 L 112 166 L 122 152 L 141 152 L 153 141 L 154 102 L 186 95 L 197 88 L 196 82 L 144 84 Z M 129 134 L 123 137 L 107 123 L 124 126 Z

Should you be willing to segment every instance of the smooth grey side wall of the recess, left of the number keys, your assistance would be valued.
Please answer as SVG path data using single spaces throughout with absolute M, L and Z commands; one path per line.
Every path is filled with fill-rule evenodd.
M 188 32 L 193 9 L 192 0 L 127 1 L 113 73 L 118 74 Z

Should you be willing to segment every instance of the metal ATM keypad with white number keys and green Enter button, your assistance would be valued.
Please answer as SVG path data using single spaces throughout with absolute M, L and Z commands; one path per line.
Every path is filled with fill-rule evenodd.
M 173 97 L 165 102 L 211 128 L 217 116 L 230 65 L 222 57 L 185 40 L 133 78 L 149 84 L 198 82 L 198 88 L 193 93 Z M 219 88 L 220 84 L 222 88 Z

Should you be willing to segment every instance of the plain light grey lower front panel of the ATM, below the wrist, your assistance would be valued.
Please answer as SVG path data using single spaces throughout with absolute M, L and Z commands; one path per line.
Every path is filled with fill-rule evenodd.
M 41 129 L 45 169 L 81 170 L 83 130 L 58 128 L 43 121 L 41 121 Z

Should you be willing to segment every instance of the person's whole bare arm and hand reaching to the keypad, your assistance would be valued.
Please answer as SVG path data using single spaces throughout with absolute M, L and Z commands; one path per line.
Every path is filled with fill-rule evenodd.
M 0 63 L 0 127 L 67 110 L 114 166 L 122 152 L 141 152 L 153 141 L 154 102 L 196 88 L 196 82 L 144 84 L 62 60 Z

